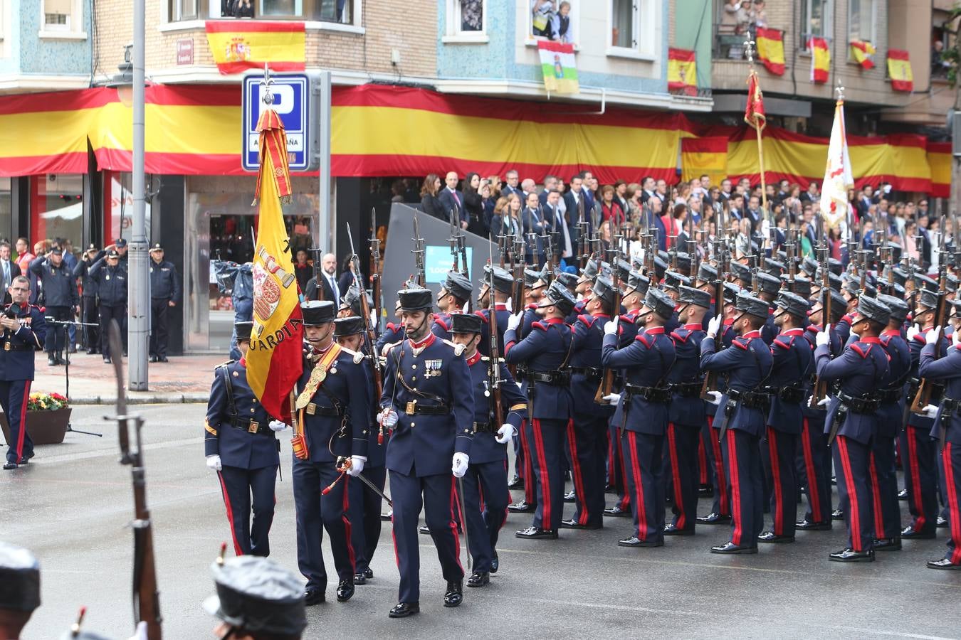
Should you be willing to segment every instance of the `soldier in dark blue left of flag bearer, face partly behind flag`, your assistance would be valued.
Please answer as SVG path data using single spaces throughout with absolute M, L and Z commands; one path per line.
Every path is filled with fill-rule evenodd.
M 237 556 L 270 555 L 274 483 L 281 463 L 281 445 L 274 432 L 284 427 L 267 414 L 247 384 L 246 356 L 253 327 L 253 322 L 236 324 L 241 358 L 213 369 L 204 420 L 204 454 L 208 468 L 220 480 Z

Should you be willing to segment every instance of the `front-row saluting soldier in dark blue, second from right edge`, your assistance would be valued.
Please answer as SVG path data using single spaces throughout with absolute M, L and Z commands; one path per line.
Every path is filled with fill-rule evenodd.
M 830 334 L 818 333 L 814 351 L 818 377 L 838 381 L 825 418 L 825 433 L 838 470 L 839 509 L 848 525 L 848 547 L 830 554 L 839 562 L 874 561 L 874 517 L 871 495 L 871 444 L 877 432 L 876 390 L 888 374 L 888 355 L 879 335 L 891 311 L 875 298 L 861 296 L 850 330 L 850 341 L 840 356 L 830 355 Z M 825 398 L 827 399 L 827 398 Z

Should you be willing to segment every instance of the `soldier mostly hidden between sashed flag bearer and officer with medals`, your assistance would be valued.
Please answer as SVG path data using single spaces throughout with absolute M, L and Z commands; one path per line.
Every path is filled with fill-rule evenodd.
M 357 316 L 338 318 L 333 320 L 333 337 L 342 347 L 362 353 L 361 362 L 364 374 L 367 376 L 368 394 L 374 397 L 374 372 L 371 359 L 367 357 L 366 345 L 363 340 L 365 331 L 363 319 Z M 352 429 L 355 420 L 367 420 L 367 462 L 363 463 L 364 478 L 383 490 L 387 479 L 387 467 L 383 465 L 387 446 L 381 437 L 379 426 L 374 422 L 374 405 L 367 412 L 366 417 L 351 416 Z M 354 546 L 354 583 L 364 584 L 374 577 L 370 568 L 370 560 L 377 551 L 378 539 L 381 537 L 381 503 L 378 493 L 359 480 L 352 481 L 347 486 L 350 508 L 348 520 L 351 522 L 351 543 Z

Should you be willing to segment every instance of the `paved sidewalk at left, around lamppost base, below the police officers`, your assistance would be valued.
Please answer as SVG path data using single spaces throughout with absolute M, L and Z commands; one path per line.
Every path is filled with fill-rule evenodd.
M 149 391 L 127 391 L 131 404 L 207 402 L 213 367 L 226 362 L 227 355 L 170 357 L 167 363 L 148 363 Z M 128 361 L 123 359 L 124 379 L 128 376 Z M 65 393 L 66 379 L 62 365 L 49 367 L 47 354 L 38 351 L 35 358 L 36 376 L 31 391 Z M 70 404 L 113 404 L 116 402 L 116 378 L 113 366 L 103 356 L 86 355 L 79 351 L 70 355 Z

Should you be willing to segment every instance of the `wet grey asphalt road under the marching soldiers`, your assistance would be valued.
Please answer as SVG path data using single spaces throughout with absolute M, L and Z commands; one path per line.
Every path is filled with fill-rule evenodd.
M 146 419 L 164 637 L 209 638 L 213 621 L 200 604 L 212 591 L 209 563 L 230 533 L 204 465 L 204 407 L 135 409 Z M 117 463 L 116 429 L 101 418 L 108 413 L 110 407 L 76 408 L 74 428 L 103 431 L 102 439 L 68 434 L 62 445 L 38 447 L 36 463 L 0 476 L 0 539 L 33 549 L 42 567 L 43 604 L 25 629 L 27 640 L 59 637 L 81 605 L 85 628 L 113 638 L 133 631 L 130 469 Z M 296 570 L 286 438 L 282 460 L 272 557 Z M 702 499 L 700 512 L 709 506 Z M 398 579 L 385 523 L 371 564 L 375 579 L 357 586 L 346 604 L 333 602 L 332 582 L 329 602 L 308 609 L 305 637 L 961 637 L 961 572 L 924 567 L 944 555 L 946 530 L 937 540 L 878 554 L 873 564 L 845 565 L 827 561 L 845 544 L 839 526 L 799 533 L 793 545 L 762 545 L 757 556 L 721 557 L 708 548 L 727 540 L 725 527 L 635 550 L 616 546 L 630 533 L 626 519 L 605 519 L 601 531 L 565 531 L 553 542 L 513 537 L 528 524 L 529 516 L 508 517 L 500 572 L 486 588 L 465 589 L 457 609 L 441 606 L 440 567 L 431 539 L 422 536 L 421 613 L 390 620 Z M 330 570 L 329 549 L 325 554 Z

